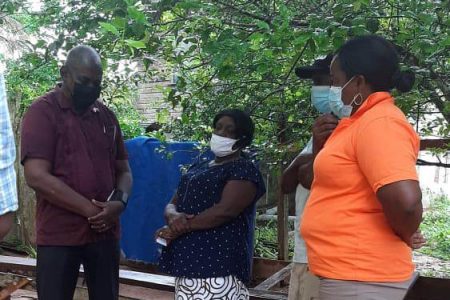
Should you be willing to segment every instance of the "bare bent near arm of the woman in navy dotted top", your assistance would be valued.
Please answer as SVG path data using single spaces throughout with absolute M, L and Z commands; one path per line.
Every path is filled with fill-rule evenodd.
M 189 231 L 210 229 L 233 220 L 255 200 L 256 192 L 251 181 L 228 181 L 219 203 L 187 220 Z

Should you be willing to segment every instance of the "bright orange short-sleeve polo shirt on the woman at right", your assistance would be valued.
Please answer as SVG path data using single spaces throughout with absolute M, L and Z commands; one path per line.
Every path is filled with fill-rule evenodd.
M 411 249 L 391 229 L 377 190 L 418 180 L 419 138 L 387 92 L 344 118 L 314 162 L 301 234 L 318 276 L 399 282 L 412 276 Z

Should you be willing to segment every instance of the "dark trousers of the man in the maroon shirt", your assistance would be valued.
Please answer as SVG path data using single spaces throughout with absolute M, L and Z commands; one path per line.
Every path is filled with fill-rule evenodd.
M 84 246 L 38 246 L 39 300 L 72 300 L 80 265 L 90 300 L 119 297 L 119 243 L 106 240 Z

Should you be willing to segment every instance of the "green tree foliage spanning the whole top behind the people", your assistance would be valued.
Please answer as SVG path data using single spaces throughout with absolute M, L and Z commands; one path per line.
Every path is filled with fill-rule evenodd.
M 152 67 L 162 59 L 178 78 L 165 99 L 182 115 L 170 120 L 163 110 L 158 118 L 175 139 L 205 140 L 215 113 L 239 107 L 252 113 L 262 155 L 285 160 L 287 151 L 306 143 L 317 116 L 310 82 L 298 80 L 295 67 L 370 33 L 397 44 L 403 68 L 417 74 L 416 88 L 397 97 L 398 105 L 416 122 L 426 122 L 424 134 L 450 132 L 449 1 L 86 0 L 62 6 L 45 0 L 38 13 L 6 2 L 9 8 L 0 8 L 14 7 L 14 17 L 36 35 L 34 51 L 43 53 L 41 59 L 79 43 L 100 51 L 108 74 L 139 59 L 146 76 L 128 77 L 126 89 L 155 75 L 167 78 Z M 429 114 L 435 111 L 442 116 Z

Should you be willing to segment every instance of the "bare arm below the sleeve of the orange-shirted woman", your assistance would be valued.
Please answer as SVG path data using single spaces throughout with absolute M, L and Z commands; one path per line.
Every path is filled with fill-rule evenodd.
M 392 230 L 408 245 L 422 221 L 419 182 L 403 180 L 381 187 L 377 197 Z

